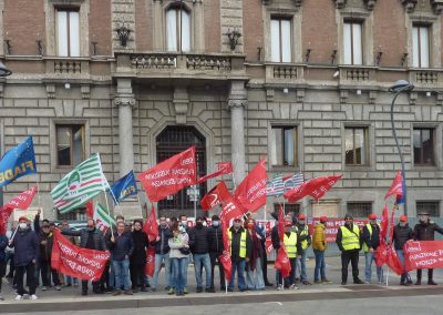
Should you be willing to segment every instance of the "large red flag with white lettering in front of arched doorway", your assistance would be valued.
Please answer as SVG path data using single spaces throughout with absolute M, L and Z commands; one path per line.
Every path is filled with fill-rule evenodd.
M 138 175 L 152 202 L 174 194 L 197 182 L 195 146 L 158 163 Z

